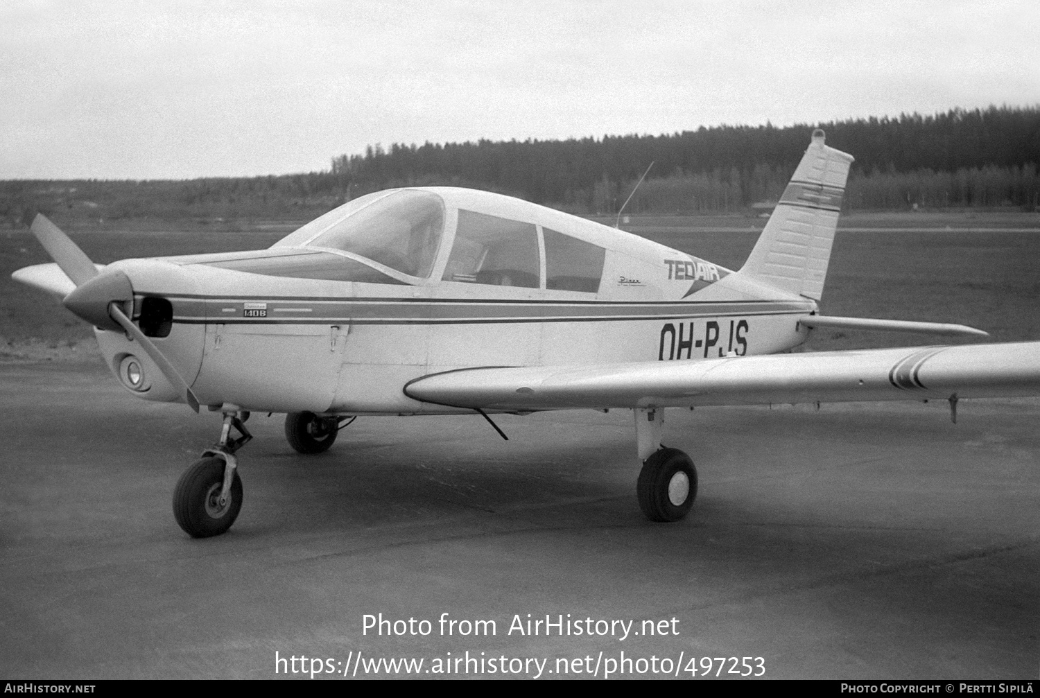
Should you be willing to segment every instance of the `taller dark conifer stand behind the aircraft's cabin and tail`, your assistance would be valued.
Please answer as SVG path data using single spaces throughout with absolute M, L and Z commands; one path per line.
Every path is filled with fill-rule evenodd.
M 827 131 L 828 145 L 856 156 L 854 179 L 878 178 L 879 184 L 892 174 L 1040 163 L 1040 107 L 991 106 L 787 127 L 701 127 L 656 136 L 394 144 L 333 158 L 332 174 L 366 190 L 459 182 L 562 208 L 606 212 L 617 197 L 604 192 L 630 190 L 653 162 L 646 186 L 666 179 L 673 181 L 659 187 L 711 189 L 712 196 L 699 197 L 692 207 L 732 209 L 776 196 L 777 180 L 782 191 L 814 128 Z M 678 210 L 691 206 L 673 205 Z

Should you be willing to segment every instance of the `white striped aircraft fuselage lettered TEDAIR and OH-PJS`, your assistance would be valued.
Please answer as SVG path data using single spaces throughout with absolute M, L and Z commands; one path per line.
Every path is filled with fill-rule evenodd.
M 368 195 L 267 250 L 123 260 L 134 319 L 203 404 L 450 413 L 402 388 L 475 366 L 696 361 L 805 340 L 810 299 L 656 242 L 501 195 Z M 146 399 L 177 391 L 97 330 Z M 127 357 L 145 380 L 132 387 Z

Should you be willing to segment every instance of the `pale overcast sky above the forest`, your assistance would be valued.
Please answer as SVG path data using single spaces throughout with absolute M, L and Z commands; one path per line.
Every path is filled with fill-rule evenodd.
M 0 179 L 1040 104 L 1040 2 L 0 2 Z

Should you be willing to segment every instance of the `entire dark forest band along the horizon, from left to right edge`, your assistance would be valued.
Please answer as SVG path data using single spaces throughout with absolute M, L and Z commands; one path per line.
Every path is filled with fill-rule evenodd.
M 383 188 L 470 186 L 582 214 L 748 212 L 776 201 L 814 128 L 855 155 L 844 208 L 1040 206 L 1040 105 L 662 135 L 369 146 L 327 171 L 194 180 L 0 181 L 8 226 L 61 219 L 298 221 Z M 652 166 L 651 166 L 652 163 Z

